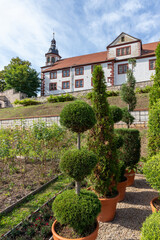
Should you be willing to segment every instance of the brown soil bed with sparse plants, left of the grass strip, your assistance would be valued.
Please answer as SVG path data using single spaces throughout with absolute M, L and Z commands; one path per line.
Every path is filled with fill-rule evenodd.
M 59 173 L 58 164 L 55 160 L 48 160 L 46 166 L 39 160 L 24 163 L 24 158 L 0 160 L 0 211 L 51 180 Z

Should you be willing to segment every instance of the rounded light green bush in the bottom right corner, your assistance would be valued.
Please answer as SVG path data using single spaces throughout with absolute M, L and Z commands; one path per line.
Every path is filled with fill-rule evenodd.
M 141 240 L 160 239 L 160 211 L 146 218 L 141 228 Z

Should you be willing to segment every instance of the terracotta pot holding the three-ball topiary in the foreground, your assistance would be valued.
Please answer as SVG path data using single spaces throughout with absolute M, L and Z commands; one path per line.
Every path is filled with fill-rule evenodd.
M 82 238 L 65 238 L 65 237 L 61 237 L 59 236 L 56 232 L 55 232 L 55 225 L 57 223 L 57 220 L 54 221 L 54 223 L 52 224 L 52 234 L 53 234 L 53 238 L 54 240 L 95 240 L 97 238 L 97 235 L 98 235 L 98 229 L 99 229 L 99 224 L 98 224 L 98 221 L 97 221 L 97 227 L 96 229 L 94 230 L 93 233 L 91 233 L 90 235 L 86 236 L 86 237 L 82 237 Z

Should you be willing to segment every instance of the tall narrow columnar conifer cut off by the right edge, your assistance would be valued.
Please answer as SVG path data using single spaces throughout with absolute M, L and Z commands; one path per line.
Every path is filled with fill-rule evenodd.
M 156 68 L 153 86 L 149 94 L 148 154 L 153 156 L 160 150 L 160 44 L 156 48 Z

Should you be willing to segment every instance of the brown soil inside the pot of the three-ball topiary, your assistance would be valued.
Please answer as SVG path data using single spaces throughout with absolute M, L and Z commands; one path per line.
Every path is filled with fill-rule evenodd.
M 96 226 L 97 225 L 95 223 L 93 226 L 88 227 L 87 231 L 83 235 L 80 235 L 76 231 L 74 231 L 73 228 L 66 225 L 61 225 L 60 223 L 57 222 L 55 225 L 55 231 L 61 237 L 75 239 L 75 238 L 82 238 L 90 235 L 91 233 L 94 232 L 94 230 L 96 229 Z

